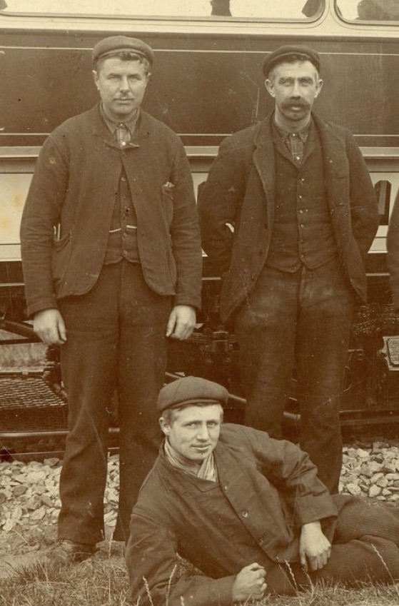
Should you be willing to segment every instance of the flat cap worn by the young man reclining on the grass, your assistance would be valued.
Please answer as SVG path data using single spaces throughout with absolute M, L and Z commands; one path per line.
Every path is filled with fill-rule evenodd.
M 169 383 L 158 396 L 158 411 L 188 404 L 226 404 L 228 390 L 201 377 L 184 377 Z

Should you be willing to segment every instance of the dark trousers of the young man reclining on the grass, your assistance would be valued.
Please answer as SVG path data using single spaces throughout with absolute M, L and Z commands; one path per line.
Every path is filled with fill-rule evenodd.
M 305 572 L 298 562 L 273 565 L 266 577 L 269 592 L 295 595 L 316 581 L 355 586 L 399 580 L 398 508 L 348 495 L 334 500 L 338 522 L 327 564 L 316 572 Z

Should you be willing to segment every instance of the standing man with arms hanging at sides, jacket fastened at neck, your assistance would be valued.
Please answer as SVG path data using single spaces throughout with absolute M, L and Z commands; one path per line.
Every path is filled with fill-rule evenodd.
M 200 305 L 201 243 L 186 154 L 173 131 L 141 110 L 153 58 L 150 46 L 126 36 L 94 46 L 101 101 L 46 140 L 22 217 L 29 315 L 44 343 L 61 348 L 69 399 L 59 515 L 65 560 L 89 557 L 103 540 L 114 390 L 114 539 L 127 538 L 158 451 L 166 337 L 187 338 Z

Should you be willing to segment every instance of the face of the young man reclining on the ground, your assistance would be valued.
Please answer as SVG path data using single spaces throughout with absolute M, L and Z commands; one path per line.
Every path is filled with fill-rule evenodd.
M 172 413 L 171 422 L 160 419 L 169 443 L 183 458 L 201 463 L 218 443 L 221 432 L 221 406 L 188 406 Z

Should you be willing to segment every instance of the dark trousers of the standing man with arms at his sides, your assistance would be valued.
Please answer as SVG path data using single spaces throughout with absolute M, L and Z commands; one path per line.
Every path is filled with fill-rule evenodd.
M 84 296 L 59 302 L 67 330 L 61 371 L 69 435 L 60 478 L 59 538 L 103 540 L 111 398 L 118 394 L 120 494 L 115 540 L 126 540 L 131 508 L 158 454 L 156 401 L 166 370 L 171 298 L 146 286 L 141 266 L 104 266 Z

